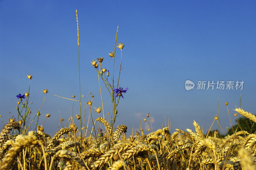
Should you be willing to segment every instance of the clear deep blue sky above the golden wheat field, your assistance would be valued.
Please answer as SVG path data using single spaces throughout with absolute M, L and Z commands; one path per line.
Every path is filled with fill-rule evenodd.
M 16 95 L 30 86 L 32 117 L 41 108 L 46 133 L 56 132 L 60 114 L 67 121 L 73 102 L 79 100 L 76 9 L 79 20 L 81 95 L 94 95 L 93 107 L 101 105 L 98 76 L 91 65 L 103 57 L 103 67 L 113 71 L 108 52 L 124 42 L 120 86 L 129 87 L 120 99 L 116 125 L 147 128 L 151 115 L 153 129 L 162 128 L 164 115 L 175 128 L 193 128 L 193 120 L 204 128 L 212 124 L 220 101 L 220 124 L 230 127 L 225 102 L 255 113 L 256 96 L 256 2 L 255 1 L 1 1 L 0 2 L 0 107 L 3 121 L 17 116 Z M 121 52 L 116 50 L 116 67 Z M 117 72 L 115 80 L 117 79 Z M 110 74 L 112 77 L 112 74 Z M 240 90 L 191 90 L 185 81 L 244 81 Z M 102 82 L 101 82 L 102 83 Z M 105 115 L 111 111 L 111 97 L 101 86 Z M 82 110 L 84 108 L 82 103 Z M 87 110 L 88 111 L 88 110 Z M 79 102 L 74 113 L 79 112 Z M 86 115 L 86 120 L 88 112 Z M 93 113 L 93 119 L 97 113 Z M 31 119 L 30 119 L 31 121 Z M 78 120 L 75 120 L 79 124 Z M 91 121 L 90 121 L 91 123 Z M 91 127 L 91 124 L 89 124 Z M 35 128 L 33 124 L 32 129 Z M 213 125 L 213 129 L 218 124 Z M 147 132 L 146 132 L 147 133 Z

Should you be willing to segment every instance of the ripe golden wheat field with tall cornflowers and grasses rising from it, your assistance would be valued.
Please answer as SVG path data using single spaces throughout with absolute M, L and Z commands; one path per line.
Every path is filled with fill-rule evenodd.
M 78 64 L 80 67 L 77 12 L 76 21 Z M 245 130 L 238 130 L 238 128 L 236 128 L 233 129 L 234 133 L 232 135 L 227 134 L 226 136 L 221 136 L 218 132 L 209 133 L 210 128 L 207 134 L 204 134 L 203 129 L 196 121 L 191 122 L 195 130 L 186 129 L 186 131 L 184 131 L 176 129 L 172 134 L 170 133 L 170 127 L 163 127 L 153 131 L 152 125 L 151 133 L 147 135 L 141 128 L 132 136 L 125 135 L 128 128 L 125 125 L 118 125 L 117 128 L 115 128 L 115 120 L 118 115 L 117 106 L 119 101 L 121 102 L 120 97 L 124 98 L 123 95 L 128 90 L 128 88 L 123 89 L 119 85 L 119 83 L 121 84 L 119 78 L 122 70 L 122 57 L 125 44 L 117 43 L 117 35 L 118 27 L 114 51 L 108 53 L 109 58 L 111 60 L 113 59 L 113 72 L 112 70 L 109 72 L 106 67 L 103 67 L 102 62 L 104 58 L 96 58 L 91 62 L 92 68 L 95 70 L 99 80 L 100 94 L 102 87 L 106 87 L 111 96 L 112 110 L 110 111 L 111 114 L 109 114 L 111 121 L 108 122 L 105 119 L 102 96 L 100 96 L 100 107 L 94 107 L 95 112 L 93 111 L 93 114 L 98 113 L 99 117 L 93 120 L 93 96 L 91 96 L 92 98 L 89 99 L 86 104 L 90 108 L 88 114 L 91 116 L 91 119 L 88 119 L 88 121 L 92 121 L 92 127 L 88 127 L 88 122 L 87 125 L 84 125 L 84 121 L 81 120 L 82 102 L 79 91 L 79 100 L 75 100 L 75 96 L 72 96 L 73 99 L 66 99 L 80 102 L 80 115 L 77 114 L 74 117 L 70 116 L 66 124 L 60 117 L 59 125 L 56 124 L 56 128 L 58 127 L 57 133 L 53 136 L 48 135 L 47 132 L 44 131 L 44 123 L 41 126 L 38 125 L 38 119 L 41 115 L 40 109 L 44 102 L 34 115 L 34 118 L 29 109 L 29 94 L 31 93 L 30 81 L 32 80 L 32 75 L 29 74 L 27 75 L 29 79 L 28 92 L 24 93 L 24 95 L 19 94 L 16 96 L 20 99 L 17 102 L 18 105 L 16 108 L 18 112 L 17 119 L 9 119 L 8 123 L 4 124 L 0 133 L 0 170 L 256 169 L 256 135 Z M 121 56 L 119 58 L 121 59 L 121 64 L 120 68 L 118 65 L 118 76 L 114 77 L 116 47 L 121 50 Z M 80 87 L 80 68 L 78 74 Z M 108 79 L 109 76 L 111 76 L 111 79 Z M 48 90 L 44 89 L 43 93 L 45 100 Z M 26 101 L 24 102 L 22 99 Z M 256 117 L 252 113 L 246 112 L 240 107 L 234 110 L 237 114 L 241 114 L 253 123 L 256 123 Z M 32 116 L 31 118 L 33 119 L 28 122 L 30 116 Z M 46 114 L 45 116 L 46 121 L 51 115 Z M 149 114 L 146 118 L 144 121 L 149 121 L 151 124 Z M 76 125 L 73 119 L 79 120 L 80 124 Z M 214 118 L 213 122 L 214 121 L 218 122 L 217 116 Z M 32 122 L 36 122 L 36 130 L 30 130 Z M 60 128 L 60 124 L 62 125 L 62 123 L 66 126 Z M 150 131 L 150 129 L 148 129 L 148 131 Z

